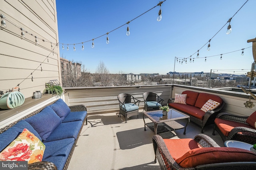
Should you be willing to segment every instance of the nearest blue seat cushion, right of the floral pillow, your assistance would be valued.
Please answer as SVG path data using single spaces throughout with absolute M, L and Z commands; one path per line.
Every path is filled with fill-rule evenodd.
M 46 149 L 44 150 L 42 161 L 52 162 L 57 166 L 58 170 L 63 170 L 74 142 L 74 138 L 45 142 Z

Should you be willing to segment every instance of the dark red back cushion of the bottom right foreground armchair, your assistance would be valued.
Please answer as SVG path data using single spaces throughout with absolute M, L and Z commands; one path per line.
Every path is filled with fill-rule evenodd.
M 183 168 L 224 162 L 256 162 L 256 154 L 239 148 L 198 148 L 188 151 L 176 162 Z

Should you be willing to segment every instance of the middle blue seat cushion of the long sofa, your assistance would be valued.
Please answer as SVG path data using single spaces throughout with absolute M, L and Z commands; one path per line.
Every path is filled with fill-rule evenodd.
M 77 138 L 77 135 L 81 129 L 82 121 L 71 121 L 66 123 L 61 123 L 56 129 L 51 133 L 51 135 L 44 141 L 57 141 L 66 138 Z

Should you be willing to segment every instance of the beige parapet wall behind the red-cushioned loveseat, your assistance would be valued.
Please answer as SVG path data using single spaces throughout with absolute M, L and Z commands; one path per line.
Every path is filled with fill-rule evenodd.
M 249 95 L 239 92 L 230 92 L 209 88 L 197 88 L 191 86 L 174 86 L 172 90 L 172 98 L 174 98 L 175 94 L 181 94 L 185 90 L 204 92 L 220 96 L 220 98 L 222 98 L 222 100 L 226 103 L 222 109 L 222 112 L 235 115 L 250 116 L 256 110 L 256 106 L 252 107 L 251 109 L 244 106 L 244 103 L 249 100 Z M 254 102 L 256 105 L 256 100 L 253 98 L 251 99 L 251 102 Z

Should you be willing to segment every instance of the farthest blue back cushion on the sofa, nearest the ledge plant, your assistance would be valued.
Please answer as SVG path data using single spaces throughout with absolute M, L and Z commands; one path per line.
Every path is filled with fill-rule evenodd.
M 54 104 L 50 105 L 50 107 L 57 113 L 61 120 L 70 113 L 70 108 L 62 99 L 57 100 Z

